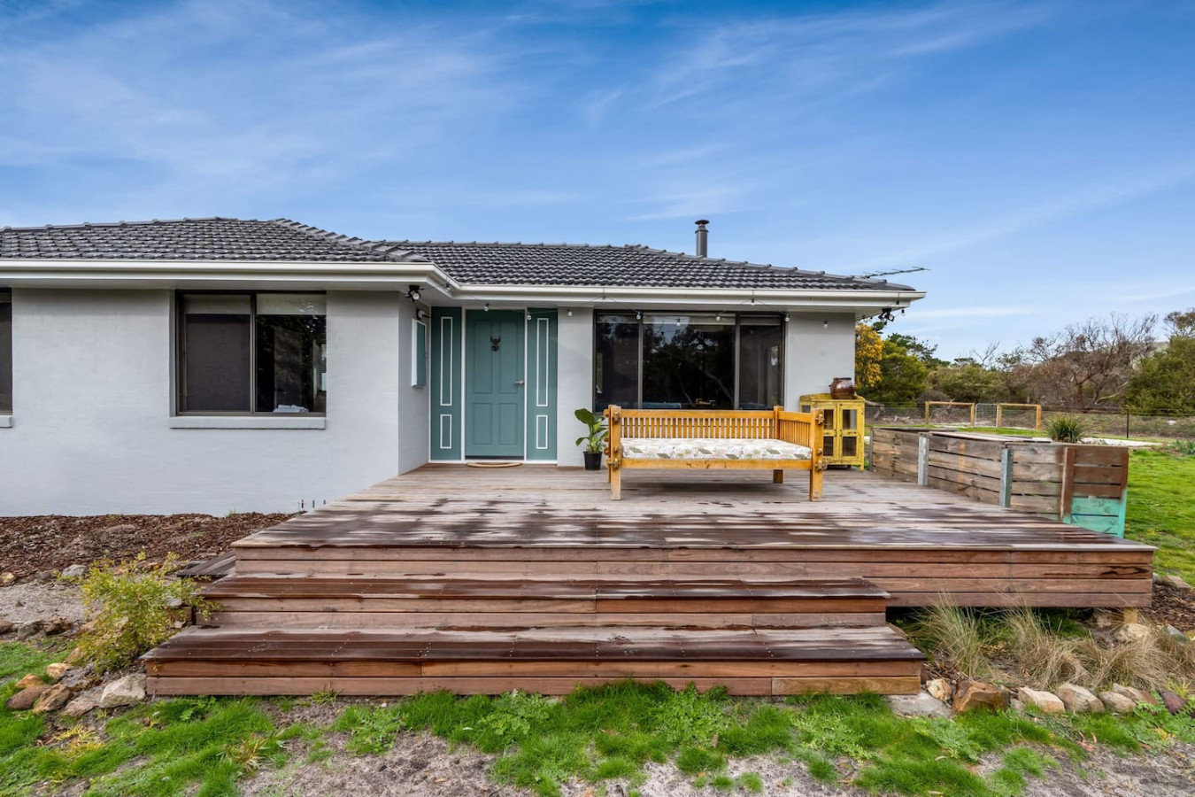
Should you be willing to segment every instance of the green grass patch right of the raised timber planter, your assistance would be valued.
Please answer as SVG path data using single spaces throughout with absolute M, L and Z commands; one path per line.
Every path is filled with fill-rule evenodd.
M 1195 583 L 1195 456 L 1135 450 L 1124 535 L 1158 547 L 1154 566 Z

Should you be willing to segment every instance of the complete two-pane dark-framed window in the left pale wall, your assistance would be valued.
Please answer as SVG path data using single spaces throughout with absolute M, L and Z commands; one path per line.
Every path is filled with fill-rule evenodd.
M 326 412 L 324 294 L 188 293 L 178 312 L 179 413 Z

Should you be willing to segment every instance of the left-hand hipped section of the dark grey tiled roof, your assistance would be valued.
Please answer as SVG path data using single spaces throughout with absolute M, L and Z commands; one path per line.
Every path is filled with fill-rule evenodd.
M 0 258 L 387 263 L 409 253 L 277 219 L 177 219 L 0 229 Z

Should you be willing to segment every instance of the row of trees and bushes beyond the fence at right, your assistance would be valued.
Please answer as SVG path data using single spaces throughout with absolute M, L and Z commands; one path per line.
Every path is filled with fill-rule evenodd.
M 1160 331 L 1160 335 L 1158 332 Z M 885 333 L 887 332 L 887 333 Z M 884 321 L 856 325 L 854 381 L 880 404 L 1042 404 L 1072 412 L 1195 415 L 1195 308 L 1130 318 L 1113 313 L 1001 351 L 954 361 Z

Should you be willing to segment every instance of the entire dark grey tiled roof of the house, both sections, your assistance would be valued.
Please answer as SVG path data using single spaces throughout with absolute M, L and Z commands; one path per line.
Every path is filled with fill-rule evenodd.
M 912 290 L 865 280 L 703 258 L 642 245 L 370 241 L 287 219 L 177 219 L 0 229 L 0 259 L 433 263 L 461 284 Z

